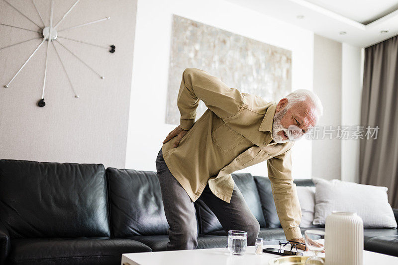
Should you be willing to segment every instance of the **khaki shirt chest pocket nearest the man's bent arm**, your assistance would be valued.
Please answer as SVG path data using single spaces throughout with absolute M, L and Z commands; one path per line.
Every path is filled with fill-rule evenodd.
M 223 153 L 231 151 L 245 139 L 243 135 L 232 130 L 225 123 L 211 132 L 211 138 Z

